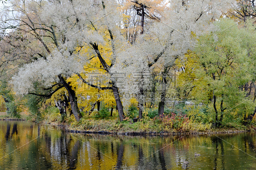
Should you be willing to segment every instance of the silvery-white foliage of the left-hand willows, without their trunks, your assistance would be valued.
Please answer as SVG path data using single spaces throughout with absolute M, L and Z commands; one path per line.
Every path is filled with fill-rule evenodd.
M 36 13 L 37 20 L 34 22 L 52 26 L 59 46 L 47 56 L 46 60 L 40 59 L 25 65 L 20 69 L 19 74 L 13 77 L 14 90 L 21 94 L 34 90 L 33 83 L 36 81 L 44 86 L 50 86 L 52 83 L 58 82 L 58 75 L 69 77 L 74 73 L 82 72 L 83 65 L 87 62 L 87 55 L 80 56 L 79 53 L 70 55 L 70 52 L 75 51 L 78 46 L 90 46 L 90 43 L 102 45 L 108 43 L 104 30 L 111 29 L 115 38 L 119 42 L 121 40 L 121 34 L 117 29 L 117 24 L 121 18 L 114 1 L 104 1 L 105 10 L 102 1 L 95 0 L 39 2 L 41 6 L 34 4 L 36 7 L 33 7 L 33 11 L 38 12 Z M 24 8 L 20 2 L 12 1 L 12 3 L 17 8 Z M 33 3 L 25 1 L 25 4 L 31 6 Z M 26 10 L 29 13 L 31 9 Z M 22 10 L 20 12 L 22 13 Z M 64 42 L 63 37 L 65 38 Z M 89 53 L 95 54 L 93 50 Z M 102 77 L 101 79 L 107 78 L 109 79 L 109 77 Z

